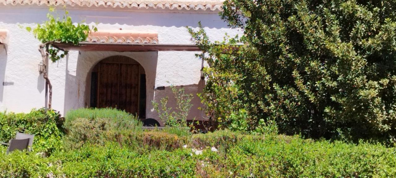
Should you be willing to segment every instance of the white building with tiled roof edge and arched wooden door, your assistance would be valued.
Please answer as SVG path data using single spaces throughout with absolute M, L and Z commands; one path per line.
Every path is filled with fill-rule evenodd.
M 222 40 L 225 33 L 240 33 L 220 19 L 221 1 L 0 0 L 0 110 L 29 112 L 44 107 L 40 42 L 21 27 L 45 21 L 49 6 L 57 7 L 60 15 L 66 6 L 74 22 L 97 23 L 98 32 L 89 36 L 88 47 L 74 49 L 49 65 L 53 109 L 65 114 L 74 108 L 112 106 L 158 120 L 151 101 L 173 98 L 171 84 L 194 93 L 189 119 L 201 119 L 195 94 L 204 87 L 203 62 L 194 56 L 198 51 L 178 50 L 190 47 L 186 26 L 198 28 L 198 21 L 213 41 Z M 139 46 L 131 47 L 134 43 L 154 45 L 138 50 Z M 168 51 L 178 48 L 168 44 L 179 49 Z M 173 99 L 169 104 L 175 104 Z

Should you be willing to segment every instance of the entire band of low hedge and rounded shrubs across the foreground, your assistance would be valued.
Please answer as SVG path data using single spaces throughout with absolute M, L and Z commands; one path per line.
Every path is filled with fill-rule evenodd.
M 30 114 L 0 114 L 3 140 L 21 130 L 36 133 L 38 138 L 34 142 L 37 149 L 32 152 L 5 155 L 6 147 L 0 146 L 0 177 L 396 176 L 396 148 L 381 144 L 228 130 L 208 134 L 175 129 L 142 131 L 133 116 L 113 109 L 72 111 L 65 121 L 67 134 L 62 142 L 61 121 L 51 114 L 56 113 L 51 111 L 47 116 L 42 110 L 33 110 Z M 58 127 L 43 129 L 48 125 Z M 42 157 L 37 146 L 53 135 L 59 135 L 59 148 Z M 53 144 L 51 139 L 48 143 Z

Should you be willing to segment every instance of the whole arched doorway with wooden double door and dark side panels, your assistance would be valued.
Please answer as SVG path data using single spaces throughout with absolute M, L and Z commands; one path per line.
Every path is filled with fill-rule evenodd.
M 144 68 L 126 56 L 103 59 L 92 69 L 90 102 L 94 108 L 117 108 L 145 118 Z

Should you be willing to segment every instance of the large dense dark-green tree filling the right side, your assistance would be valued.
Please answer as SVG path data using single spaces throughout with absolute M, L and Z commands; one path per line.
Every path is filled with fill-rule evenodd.
M 208 113 L 239 130 L 274 121 L 287 134 L 395 141 L 395 9 L 392 0 L 225 1 L 221 17 L 242 37 L 216 45 L 189 29 L 209 64 Z

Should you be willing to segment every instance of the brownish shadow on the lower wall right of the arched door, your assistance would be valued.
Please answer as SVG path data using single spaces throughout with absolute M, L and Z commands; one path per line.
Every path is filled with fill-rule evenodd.
M 201 99 L 198 97 L 198 93 L 202 93 L 205 83 L 204 80 L 200 80 L 198 84 L 192 84 L 192 85 L 180 85 L 180 86 L 175 86 L 177 89 L 184 88 L 185 89 L 185 94 L 192 94 L 192 100 L 191 100 L 191 110 L 190 113 L 188 114 L 187 119 L 188 120 L 205 120 L 205 113 L 204 111 L 200 110 L 199 108 L 202 108 L 204 105 L 201 103 Z M 177 107 L 177 103 L 175 100 L 175 95 L 172 93 L 171 88 L 165 87 L 164 90 L 155 90 L 155 101 L 158 102 L 159 104 L 161 103 L 160 100 L 161 98 L 168 97 L 168 104 L 166 105 L 167 107 L 173 108 L 173 110 Z M 152 100 L 150 100 L 151 102 Z M 161 108 L 160 108 L 161 109 Z M 153 111 L 156 113 L 156 111 Z M 156 113 L 155 118 L 161 123 L 161 126 L 163 126 L 164 121 L 160 121 L 160 118 L 158 117 L 158 114 Z

